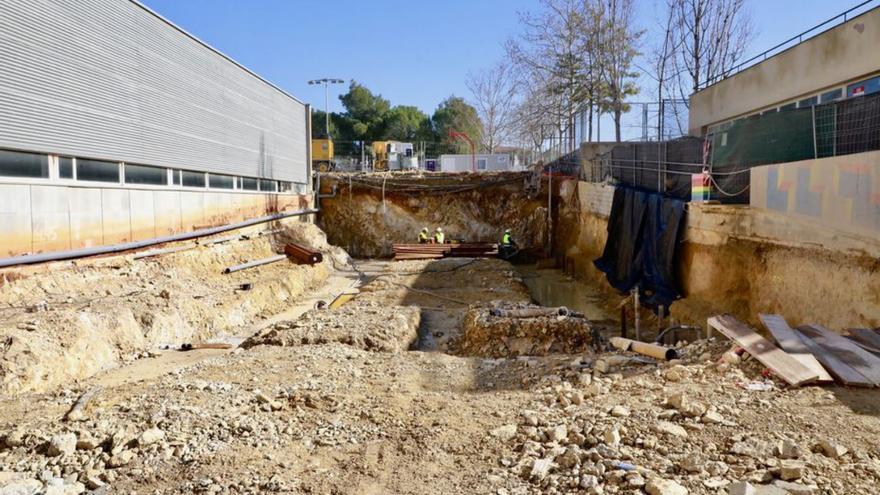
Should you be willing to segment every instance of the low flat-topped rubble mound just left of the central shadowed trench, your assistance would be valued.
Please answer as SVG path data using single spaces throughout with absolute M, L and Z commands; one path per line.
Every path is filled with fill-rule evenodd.
M 355 300 L 338 309 L 313 309 L 298 320 L 276 323 L 245 340 L 242 347 L 339 342 L 371 351 L 402 352 L 418 339 L 419 321 L 416 307 Z

